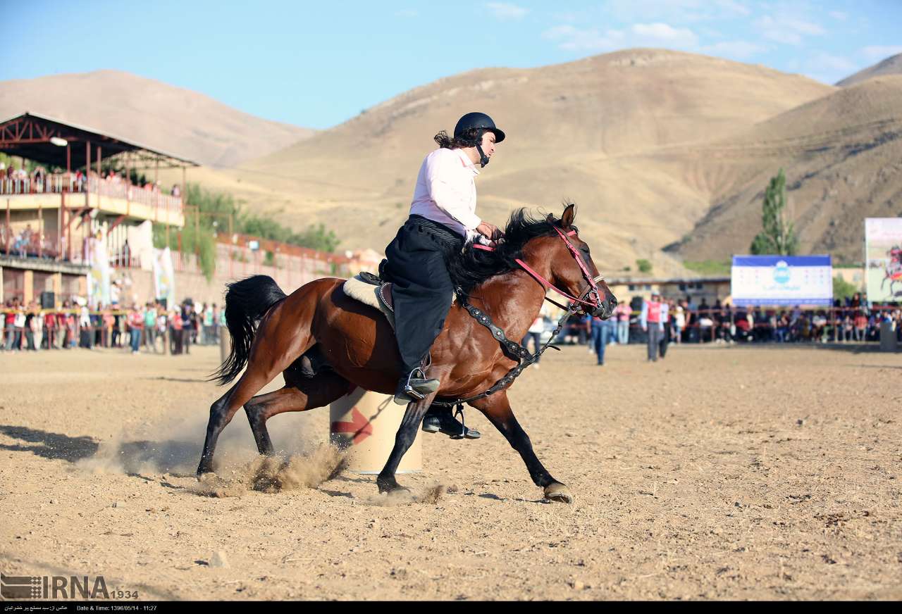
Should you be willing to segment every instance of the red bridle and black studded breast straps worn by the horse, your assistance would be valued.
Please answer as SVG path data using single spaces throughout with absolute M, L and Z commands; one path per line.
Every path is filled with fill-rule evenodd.
M 519 264 L 520 267 L 523 268 L 523 270 L 526 270 L 526 272 L 528 272 L 529 275 L 531 275 L 533 278 L 535 278 L 535 280 L 537 280 L 538 283 L 540 283 L 543 288 L 545 288 L 546 290 L 553 289 L 555 292 L 557 292 L 557 294 L 573 301 L 573 303 L 569 307 L 564 307 L 560 303 L 557 303 L 557 301 L 554 301 L 548 297 L 545 297 L 545 300 L 547 300 L 549 303 L 557 305 L 557 307 L 560 307 L 561 309 L 563 309 L 564 314 L 557 321 L 557 326 L 555 327 L 555 330 L 551 333 L 551 336 L 548 337 L 548 341 L 545 342 L 545 344 L 543 344 L 542 347 L 537 348 L 535 353 L 529 353 L 529 350 L 526 347 L 508 339 L 507 335 L 504 334 L 504 331 L 501 328 L 499 328 L 497 325 L 495 325 L 494 322 L 492 322 L 492 318 L 489 317 L 488 314 L 485 314 L 478 307 L 474 307 L 473 305 L 470 305 L 468 302 L 466 302 L 466 300 L 464 298 L 459 298 L 458 300 L 460 301 L 461 306 L 464 307 L 467 310 L 467 312 L 471 316 L 474 317 L 474 320 L 476 320 L 476 322 L 478 322 L 479 324 L 481 324 L 489 329 L 489 331 L 492 333 L 492 336 L 498 340 L 498 343 L 502 344 L 502 349 L 506 350 L 507 353 L 509 354 L 509 357 L 512 358 L 513 360 L 516 360 L 517 364 L 511 369 L 511 371 L 508 371 L 504 375 L 504 377 L 502 377 L 501 380 L 496 381 L 494 383 L 494 385 L 492 386 L 492 388 L 487 389 L 485 392 L 474 395 L 473 397 L 467 397 L 465 399 L 455 399 L 453 401 L 451 401 L 451 400 L 448 400 L 448 401 L 433 400 L 432 405 L 437 405 L 437 406 L 443 407 L 443 408 L 451 408 L 451 407 L 456 406 L 457 413 L 461 417 L 463 417 L 465 403 L 470 403 L 471 401 L 478 400 L 478 399 L 485 399 L 486 397 L 494 394 L 495 392 L 498 392 L 501 389 L 507 388 L 508 386 L 511 385 L 511 383 L 513 383 L 513 380 L 516 380 L 517 377 L 520 376 L 520 373 L 522 373 L 524 369 L 529 367 L 529 365 L 532 364 L 533 362 L 538 361 L 539 356 L 541 356 L 543 353 L 545 353 L 545 351 L 548 350 L 549 347 L 553 347 L 557 351 L 560 351 L 560 348 L 557 347 L 557 345 L 552 345 L 551 342 L 555 339 L 555 337 L 557 337 L 557 334 L 559 334 L 561 332 L 561 330 L 563 330 L 564 324 L 570 318 L 570 316 L 573 316 L 579 312 L 581 307 L 577 304 L 589 305 L 592 307 L 601 307 L 602 306 L 602 298 L 601 298 L 601 292 L 598 289 L 598 281 L 603 280 L 603 277 L 601 275 L 599 275 L 597 277 L 592 276 L 592 274 L 586 268 L 583 258 L 580 256 L 579 252 L 576 251 L 576 248 L 574 247 L 573 243 L 570 243 L 570 241 L 566 238 L 567 235 L 573 236 L 574 234 L 576 234 L 576 231 L 572 230 L 569 233 L 564 234 L 563 232 L 561 232 L 561 230 L 559 228 L 557 228 L 557 226 L 554 226 L 554 229 L 557 231 L 557 234 L 560 235 L 561 239 L 564 240 L 564 243 L 566 243 L 567 248 L 570 250 L 571 255 L 573 255 L 574 260 L 579 265 L 580 270 L 583 271 L 583 277 L 585 278 L 586 281 L 589 282 L 589 287 L 585 290 L 585 292 L 583 294 L 580 295 L 580 298 L 576 298 L 561 289 L 557 289 L 557 287 L 554 284 L 552 284 L 550 281 L 546 280 L 544 277 L 539 275 L 538 272 L 536 272 L 535 270 L 532 270 L 532 268 L 526 262 L 520 260 L 520 258 L 516 259 L 517 264 Z M 483 250 L 484 252 L 494 252 L 494 248 L 492 248 L 488 245 L 481 245 L 479 243 L 474 243 L 473 247 L 474 247 L 474 249 Z M 595 295 L 594 303 L 590 303 L 583 299 L 583 297 L 590 298 L 593 294 Z M 462 291 L 458 291 L 457 296 L 463 297 L 464 293 Z

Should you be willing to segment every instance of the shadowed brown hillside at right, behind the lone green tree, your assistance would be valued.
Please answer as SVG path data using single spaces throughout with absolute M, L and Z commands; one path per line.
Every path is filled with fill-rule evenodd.
M 902 215 L 902 76 L 837 90 L 688 156 L 661 155 L 704 168 L 713 184 L 711 211 L 668 252 L 691 260 L 746 252 L 764 188 L 782 167 L 801 252 L 861 261 L 863 219 Z

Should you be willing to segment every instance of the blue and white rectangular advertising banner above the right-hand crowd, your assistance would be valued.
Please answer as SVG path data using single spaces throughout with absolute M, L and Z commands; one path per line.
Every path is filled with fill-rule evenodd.
M 831 305 L 833 262 L 818 256 L 733 256 L 732 302 L 756 305 Z

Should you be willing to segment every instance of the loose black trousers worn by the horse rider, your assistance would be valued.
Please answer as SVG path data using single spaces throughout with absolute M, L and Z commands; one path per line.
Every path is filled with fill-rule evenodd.
M 394 283 L 395 336 L 405 376 L 419 368 L 442 332 L 454 293 L 447 261 L 463 247 L 460 234 L 410 215 L 385 248 L 381 272 Z

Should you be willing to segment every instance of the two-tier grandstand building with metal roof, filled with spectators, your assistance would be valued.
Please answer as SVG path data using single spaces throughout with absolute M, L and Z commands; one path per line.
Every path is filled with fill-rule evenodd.
M 156 179 L 181 168 L 183 189 L 191 160 L 29 113 L 0 122 L 0 152 L 13 157 L 0 171 L 0 302 L 59 307 L 87 294 L 97 253 L 131 267 L 152 249 L 152 224 L 185 224 L 180 192 L 162 193 Z M 130 179 L 139 175 L 144 186 Z

